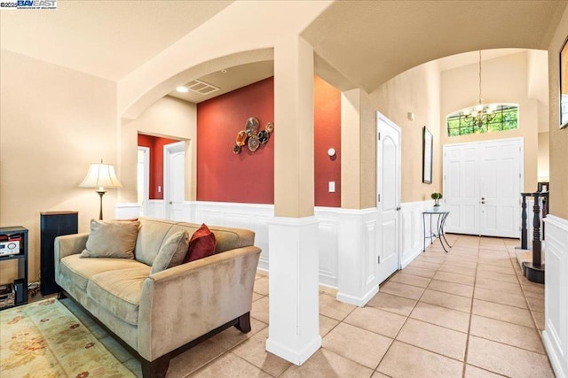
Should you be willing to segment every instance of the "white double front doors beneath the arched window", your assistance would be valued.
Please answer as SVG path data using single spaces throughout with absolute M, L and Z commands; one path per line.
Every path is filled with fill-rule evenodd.
M 444 146 L 446 232 L 518 237 L 523 140 Z

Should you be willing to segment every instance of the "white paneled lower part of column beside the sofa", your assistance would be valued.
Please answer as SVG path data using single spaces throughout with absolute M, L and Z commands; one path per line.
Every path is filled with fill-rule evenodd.
M 266 351 L 302 365 L 321 346 L 318 220 L 275 218 L 269 224 L 270 322 Z

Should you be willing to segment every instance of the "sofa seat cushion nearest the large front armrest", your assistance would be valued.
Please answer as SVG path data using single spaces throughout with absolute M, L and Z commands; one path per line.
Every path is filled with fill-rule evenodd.
M 150 266 L 142 264 L 95 274 L 87 284 L 87 295 L 117 318 L 137 325 L 142 285 L 149 274 Z

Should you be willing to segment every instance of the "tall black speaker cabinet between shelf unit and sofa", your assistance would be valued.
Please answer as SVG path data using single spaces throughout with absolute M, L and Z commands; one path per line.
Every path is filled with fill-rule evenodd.
M 40 290 L 43 296 L 59 292 L 55 283 L 55 238 L 77 233 L 78 212 L 41 213 Z

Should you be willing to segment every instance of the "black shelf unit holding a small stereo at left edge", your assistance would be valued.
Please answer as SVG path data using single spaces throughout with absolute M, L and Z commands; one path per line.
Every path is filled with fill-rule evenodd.
M 16 246 L 15 248 L 12 248 Z M 14 305 L 28 303 L 28 228 L 0 228 L 0 262 L 18 260 L 18 279 L 14 281 Z M 0 282 L 10 283 L 10 282 Z

